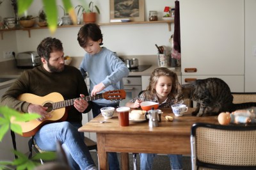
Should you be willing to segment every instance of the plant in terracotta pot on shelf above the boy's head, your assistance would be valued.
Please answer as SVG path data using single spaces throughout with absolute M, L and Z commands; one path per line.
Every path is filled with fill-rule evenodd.
M 96 14 L 100 14 L 100 10 L 97 5 L 93 5 L 93 2 L 90 1 L 89 4 L 83 3 L 83 5 L 77 5 L 78 8 L 77 17 L 79 18 L 79 12 L 82 10 L 83 12 L 83 21 L 84 23 L 94 23 L 96 22 Z M 93 8 L 96 9 L 96 12 L 93 12 Z

